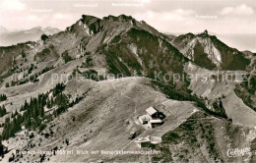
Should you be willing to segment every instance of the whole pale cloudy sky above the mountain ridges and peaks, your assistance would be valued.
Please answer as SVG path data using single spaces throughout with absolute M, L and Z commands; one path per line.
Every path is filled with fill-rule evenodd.
M 131 15 L 160 31 L 256 33 L 255 0 L 0 0 L 0 25 L 9 29 L 74 24 L 81 15 Z

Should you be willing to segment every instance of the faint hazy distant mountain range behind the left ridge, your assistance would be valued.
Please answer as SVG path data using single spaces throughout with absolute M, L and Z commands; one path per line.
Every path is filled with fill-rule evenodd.
M 60 29 L 54 27 L 32 27 L 23 30 L 9 30 L 6 27 L 0 27 L 0 46 L 10 46 L 26 41 L 38 40 L 41 34 L 48 35 L 59 32 Z

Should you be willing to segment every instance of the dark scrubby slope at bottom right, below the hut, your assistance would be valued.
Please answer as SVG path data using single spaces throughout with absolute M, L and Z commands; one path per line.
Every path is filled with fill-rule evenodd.
M 162 137 L 156 148 L 163 153 L 154 160 L 161 161 L 200 161 L 200 162 L 239 162 L 249 155 L 228 157 L 227 149 L 249 146 L 250 129 L 232 125 L 228 121 L 218 120 L 204 113 L 195 113 L 175 130 Z M 245 136 L 242 136 L 242 134 Z

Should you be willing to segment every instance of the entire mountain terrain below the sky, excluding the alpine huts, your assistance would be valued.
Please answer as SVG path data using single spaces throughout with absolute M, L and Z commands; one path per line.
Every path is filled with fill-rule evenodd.
M 253 162 L 248 153 L 236 158 L 226 151 L 254 149 L 256 114 L 246 105 L 255 103 L 239 95 L 254 93 L 255 78 L 251 73 L 249 83 L 215 81 L 217 70 L 246 74 L 253 61 L 253 54 L 242 55 L 207 30 L 168 36 L 125 15 L 83 15 L 43 41 L 0 47 L 0 95 L 7 97 L 0 101 L 1 114 L 6 109 L 0 145 L 8 148 L 0 161 Z M 207 80 L 161 81 L 166 74 L 206 74 Z M 138 117 L 151 106 L 165 117 L 149 130 Z M 139 148 L 131 133 L 162 141 Z M 58 149 L 69 154 L 56 154 Z M 149 149 L 161 153 L 85 154 Z M 18 152 L 42 150 L 49 152 Z

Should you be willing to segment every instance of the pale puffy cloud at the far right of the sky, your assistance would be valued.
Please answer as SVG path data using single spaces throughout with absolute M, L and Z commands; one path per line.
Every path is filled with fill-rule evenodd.
M 235 7 L 225 7 L 221 11 L 221 15 L 250 16 L 254 13 L 251 7 L 240 5 Z

